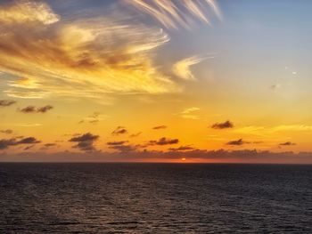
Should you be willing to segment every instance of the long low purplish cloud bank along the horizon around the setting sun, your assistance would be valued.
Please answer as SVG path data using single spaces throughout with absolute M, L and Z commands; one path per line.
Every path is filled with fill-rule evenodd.
M 142 150 L 135 151 L 136 146 L 121 146 L 116 152 L 94 151 L 92 154 L 85 152 L 62 151 L 57 153 L 27 152 L 18 154 L 0 154 L 0 161 L 46 161 L 48 158 L 53 162 L 160 162 L 161 160 L 180 160 L 185 157 L 192 162 L 211 163 L 287 163 L 287 164 L 312 164 L 312 152 L 292 151 L 272 152 L 268 150 L 243 149 L 243 150 L 205 150 L 194 149 L 188 151 Z

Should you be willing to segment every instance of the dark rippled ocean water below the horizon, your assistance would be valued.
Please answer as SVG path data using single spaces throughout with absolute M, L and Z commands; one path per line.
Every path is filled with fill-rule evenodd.
M 312 233 L 312 165 L 0 164 L 0 233 Z

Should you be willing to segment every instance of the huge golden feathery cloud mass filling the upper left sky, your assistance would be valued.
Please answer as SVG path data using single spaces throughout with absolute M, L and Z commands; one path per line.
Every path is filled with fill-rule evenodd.
M 178 90 L 154 65 L 154 51 L 169 36 L 138 24 L 122 9 L 82 20 L 61 19 L 47 4 L 33 1 L 1 11 L 8 22 L 0 24 L 0 69 L 17 77 L 8 81 L 9 96 L 103 100 L 107 93 Z

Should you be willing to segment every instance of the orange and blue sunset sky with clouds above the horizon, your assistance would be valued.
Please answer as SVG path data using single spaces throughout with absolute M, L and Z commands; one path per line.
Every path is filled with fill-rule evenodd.
M 0 161 L 312 163 L 311 1 L 0 1 Z

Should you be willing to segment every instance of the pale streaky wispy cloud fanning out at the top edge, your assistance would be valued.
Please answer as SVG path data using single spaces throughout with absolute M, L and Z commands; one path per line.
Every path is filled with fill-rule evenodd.
M 207 11 L 214 12 L 219 19 L 222 18 L 218 5 L 213 0 L 127 0 L 127 4 L 134 6 L 139 12 L 150 15 L 166 28 L 191 28 L 195 20 L 209 24 Z

